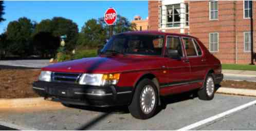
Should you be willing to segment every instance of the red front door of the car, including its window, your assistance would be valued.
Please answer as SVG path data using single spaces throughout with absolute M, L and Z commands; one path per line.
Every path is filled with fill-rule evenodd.
M 185 51 L 179 36 L 167 36 L 164 60 L 168 70 L 168 83 L 161 83 L 161 95 L 179 93 L 189 90 L 191 79 L 190 63 L 185 57 Z

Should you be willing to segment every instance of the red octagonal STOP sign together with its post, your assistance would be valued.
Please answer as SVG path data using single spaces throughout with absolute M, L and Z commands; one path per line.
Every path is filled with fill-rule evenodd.
M 114 8 L 108 8 L 104 14 L 104 21 L 109 26 L 109 37 L 113 35 L 113 24 L 116 22 L 117 13 Z

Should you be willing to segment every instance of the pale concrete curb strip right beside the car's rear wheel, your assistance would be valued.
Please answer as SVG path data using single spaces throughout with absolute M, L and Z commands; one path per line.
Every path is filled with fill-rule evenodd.
M 253 90 L 253 89 L 237 89 L 237 88 L 220 87 L 216 92 L 228 93 L 231 95 L 243 95 L 243 96 L 256 97 L 256 90 Z

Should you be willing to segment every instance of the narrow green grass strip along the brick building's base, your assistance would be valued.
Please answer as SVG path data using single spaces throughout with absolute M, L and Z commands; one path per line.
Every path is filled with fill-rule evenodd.
M 222 69 L 253 70 L 253 71 L 256 71 L 256 65 L 222 64 Z

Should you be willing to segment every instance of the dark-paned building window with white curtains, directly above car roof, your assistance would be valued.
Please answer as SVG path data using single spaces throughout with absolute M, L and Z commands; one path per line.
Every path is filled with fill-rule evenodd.
M 167 27 L 180 26 L 180 4 L 168 5 L 167 7 Z

